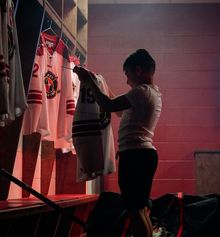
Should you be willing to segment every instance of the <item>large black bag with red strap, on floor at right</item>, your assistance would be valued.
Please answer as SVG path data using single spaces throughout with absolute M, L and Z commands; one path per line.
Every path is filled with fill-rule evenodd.
M 166 194 L 153 200 L 151 219 L 166 228 L 166 237 L 220 236 L 220 196 L 184 195 L 180 203 L 176 194 Z

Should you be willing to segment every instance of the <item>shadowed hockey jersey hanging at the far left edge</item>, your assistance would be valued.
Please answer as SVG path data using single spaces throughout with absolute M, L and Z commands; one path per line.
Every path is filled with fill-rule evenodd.
M 17 29 L 12 0 L 0 2 L 0 126 L 26 109 Z

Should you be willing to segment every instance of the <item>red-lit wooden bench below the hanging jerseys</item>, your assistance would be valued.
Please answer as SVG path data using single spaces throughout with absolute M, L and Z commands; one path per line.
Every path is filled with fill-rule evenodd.
M 98 195 L 60 194 L 47 196 L 83 221 L 98 199 Z M 0 201 L 1 237 L 81 237 L 81 226 L 62 216 L 36 198 Z

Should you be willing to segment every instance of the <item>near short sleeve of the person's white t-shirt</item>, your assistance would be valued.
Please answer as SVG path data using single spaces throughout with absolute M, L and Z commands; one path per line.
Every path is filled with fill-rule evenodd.
M 130 90 L 125 94 L 126 98 L 129 100 L 133 107 L 140 106 L 140 104 L 146 103 L 151 96 L 150 89 L 148 86 L 137 86 L 136 88 Z

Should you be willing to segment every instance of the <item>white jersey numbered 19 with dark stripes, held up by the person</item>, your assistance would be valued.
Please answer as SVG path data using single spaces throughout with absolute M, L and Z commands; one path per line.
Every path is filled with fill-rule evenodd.
M 108 95 L 104 78 L 101 75 L 96 78 L 101 90 Z M 73 122 L 78 181 L 92 180 L 116 170 L 110 120 L 110 113 L 100 110 L 90 88 L 81 83 Z

